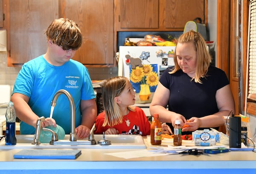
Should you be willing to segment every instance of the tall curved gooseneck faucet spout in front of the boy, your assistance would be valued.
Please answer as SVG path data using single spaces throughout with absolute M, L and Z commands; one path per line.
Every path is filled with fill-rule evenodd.
M 71 117 L 71 130 L 70 130 L 70 141 L 76 141 L 76 131 L 75 131 L 75 128 L 76 128 L 76 125 L 75 125 L 75 120 L 76 120 L 76 115 L 75 115 L 75 103 L 74 103 L 74 100 L 73 100 L 73 97 L 71 96 L 71 94 L 64 90 L 64 89 L 60 89 L 58 90 L 53 98 L 52 98 L 52 106 L 56 106 L 56 101 L 59 97 L 60 94 L 64 94 L 67 96 L 68 98 L 68 101 L 70 103 L 70 117 Z

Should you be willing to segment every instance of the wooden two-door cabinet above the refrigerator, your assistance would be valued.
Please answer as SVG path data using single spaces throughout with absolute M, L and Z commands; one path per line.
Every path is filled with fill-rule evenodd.
M 183 31 L 187 21 L 207 18 L 207 0 L 115 0 L 116 31 Z

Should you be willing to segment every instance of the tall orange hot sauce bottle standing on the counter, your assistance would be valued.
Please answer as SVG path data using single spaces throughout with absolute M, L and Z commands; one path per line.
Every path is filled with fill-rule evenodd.
M 160 145 L 162 143 L 162 124 L 160 123 L 159 114 L 154 114 L 154 120 L 150 126 L 150 143 L 151 145 Z

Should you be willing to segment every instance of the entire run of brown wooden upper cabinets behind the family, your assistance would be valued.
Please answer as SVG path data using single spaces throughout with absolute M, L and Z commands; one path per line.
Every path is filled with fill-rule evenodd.
M 74 59 L 88 67 L 116 66 L 119 31 L 183 31 L 195 17 L 208 21 L 208 0 L 3 0 L 3 4 L 7 4 L 8 66 L 21 66 L 44 54 L 44 31 L 59 17 L 78 23 L 84 41 Z

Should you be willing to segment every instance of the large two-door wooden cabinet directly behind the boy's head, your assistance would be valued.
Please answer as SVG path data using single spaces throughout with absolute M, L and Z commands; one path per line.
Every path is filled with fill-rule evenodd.
M 83 34 L 74 60 L 86 66 L 113 66 L 113 0 L 4 0 L 9 5 L 8 66 L 47 51 L 44 31 L 59 17 L 76 21 Z

